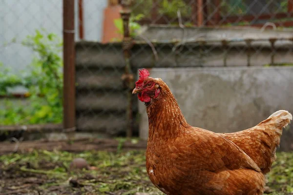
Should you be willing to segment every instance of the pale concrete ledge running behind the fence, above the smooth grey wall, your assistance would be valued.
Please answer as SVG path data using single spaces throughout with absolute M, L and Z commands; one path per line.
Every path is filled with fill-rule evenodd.
M 218 26 L 218 27 L 185 27 L 184 31 L 178 26 L 151 25 L 143 26 L 141 35 L 144 39 L 157 41 L 172 41 L 174 39 L 184 42 L 195 40 L 201 41 L 239 41 L 239 40 L 269 40 L 273 38 L 291 39 L 292 29 L 281 30 L 261 30 L 253 27 L 243 26 Z M 144 40 L 141 36 L 137 40 Z M 264 41 L 262 44 L 270 45 L 270 42 Z

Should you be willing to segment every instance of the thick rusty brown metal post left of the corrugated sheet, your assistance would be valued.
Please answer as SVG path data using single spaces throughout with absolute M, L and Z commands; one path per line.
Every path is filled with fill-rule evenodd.
M 74 0 L 63 0 L 63 128 L 75 130 Z

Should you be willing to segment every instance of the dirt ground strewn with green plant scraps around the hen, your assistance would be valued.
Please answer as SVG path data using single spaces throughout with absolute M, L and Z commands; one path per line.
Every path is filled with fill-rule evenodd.
M 0 143 L 0 195 L 163 195 L 146 174 L 145 142 L 120 139 L 58 142 L 61 146 L 44 143 L 21 143 L 15 153 L 3 149 L 11 145 L 14 150 L 15 143 Z M 99 150 L 94 143 L 103 143 L 103 147 Z M 33 145 L 40 148 L 36 150 Z M 268 175 L 268 192 L 293 195 L 293 153 L 277 156 Z M 71 162 L 75 158 L 84 158 L 88 166 L 73 169 Z

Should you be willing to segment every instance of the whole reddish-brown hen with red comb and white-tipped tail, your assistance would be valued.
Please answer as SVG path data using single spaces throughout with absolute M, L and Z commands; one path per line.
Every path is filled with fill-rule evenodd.
M 290 113 L 278 111 L 251 129 L 217 134 L 190 126 L 161 79 L 142 78 L 133 91 L 146 104 L 146 170 L 158 189 L 167 195 L 263 194 L 264 174 Z

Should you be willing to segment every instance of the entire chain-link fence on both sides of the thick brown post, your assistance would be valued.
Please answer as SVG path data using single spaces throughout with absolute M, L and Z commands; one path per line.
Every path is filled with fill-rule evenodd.
M 3 0 L 0 125 L 62 123 L 62 6 Z M 76 127 L 95 137 L 138 135 L 138 68 L 293 64 L 293 0 L 75 0 L 72 20 Z

